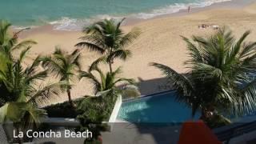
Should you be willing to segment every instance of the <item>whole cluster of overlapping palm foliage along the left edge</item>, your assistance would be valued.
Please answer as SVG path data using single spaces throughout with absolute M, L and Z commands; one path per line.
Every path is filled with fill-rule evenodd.
M 38 104 L 58 95 L 62 84 L 42 85 L 47 77 L 47 71 L 40 69 L 42 58 L 38 56 L 31 65 L 24 63 L 31 45 L 36 42 L 18 43 L 18 34 L 22 30 L 11 35 L 9 28 L 10 23 L 0 21 L 0 121 L 14 122 L 16 130 L 33 129 L 46 114 L 45 110 L 38 109 Z M 19 50 L 17 58 L 13 55 L 14 50 Z

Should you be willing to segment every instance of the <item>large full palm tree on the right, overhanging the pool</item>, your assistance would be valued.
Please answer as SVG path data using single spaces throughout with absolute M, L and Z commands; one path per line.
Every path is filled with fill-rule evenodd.
M 172 68 L 151 63 L 173 82 L 179 102 L 192 107 L 192 114 L 202 112 L 202 119 L 214 114 L 244 114 L 256 108 L 256 42 L 244 42 L 250 31 L 235 40 L 223 28 L 207 38 L 183 38 L 189 50 L 190 71 L 178 74 Z

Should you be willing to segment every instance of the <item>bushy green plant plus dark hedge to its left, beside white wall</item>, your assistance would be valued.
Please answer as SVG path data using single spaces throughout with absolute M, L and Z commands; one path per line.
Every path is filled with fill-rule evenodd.
M 117 96 L 111 94 L 113 95 L 76 99 L 74 100 L 76 109 L 73 109 L 69 102 L 46 106 L 43 109 L 52 118 L 78 118 L 80 122 L 78 131 L 90 130 L 93 133 L 93 138 L 87 138 L 85 143 L 98 143 L 100 132 L 109 130 L 109 126 L 102 122 L 108 122 L 114 108 Z

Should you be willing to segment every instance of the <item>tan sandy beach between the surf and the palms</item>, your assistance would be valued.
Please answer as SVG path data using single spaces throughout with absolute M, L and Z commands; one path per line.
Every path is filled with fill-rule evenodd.
M 184 13 L 184 12 L 183 12 Z M 126 31 L 134 27 L 142 30 L 141 36 L 134 41 L 128 49 L 132 50 L 133 56 L 126 62 L 116 61 L 115 67 L 122 66 L 123 77 L 134 78 L 139 82 L 142 94 L 153 94 L 167 90 L 162 86 L 165 81 L 159 70 L 148 66 L 149 62 L 160 62 L 166 64 L 174 70 L 183 73 L 186 67 L 183 63 L 188 59 L 186 43 L 180 37 L 190 38 L 194 35 L 209 35 L 214 33 L 212 27 L 198 29 L 199 25 L 228 26 L 234 30 L 236 36 L 241 36 L 246 30 L 251 30 L 252 34 L 247 41 L 256 39 L 256 3 L 243 7 L 215 7 L 198 10 L 191 14 L 181 14 L 178 16 L 165 16 L 150 20 L 135 22 L 127 26 L 122 26 Z M 50 54 L 54 46 L 61 46 L 62 49 L 72 51 L 74 45 L 80 40 L 83 34 L 78 31 L 52 30 L 51 26 L 43 26 L 21 34 L 22 39 L 33 39 L 38 42 L 30 52 L 30 58 L 36 54 Z M 97 53 L 86 49 L 82 51 L 82 67 L 87 69 L 96 58 Z M 90 83 L 83 79 L 75 84 L 71 93 L 73 98 L 91 94 Z M 67 99 L 66 94 L 56 99 L 62 102 Z

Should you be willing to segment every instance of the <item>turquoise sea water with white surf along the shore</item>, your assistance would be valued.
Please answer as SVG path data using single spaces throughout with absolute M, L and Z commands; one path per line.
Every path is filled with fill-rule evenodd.
M 0 18 L 14 26 L 50 23 L 57 30 L 78 30 L 102 18 L 146 19 L 222 1 L 229 0 L 0 0 Z

